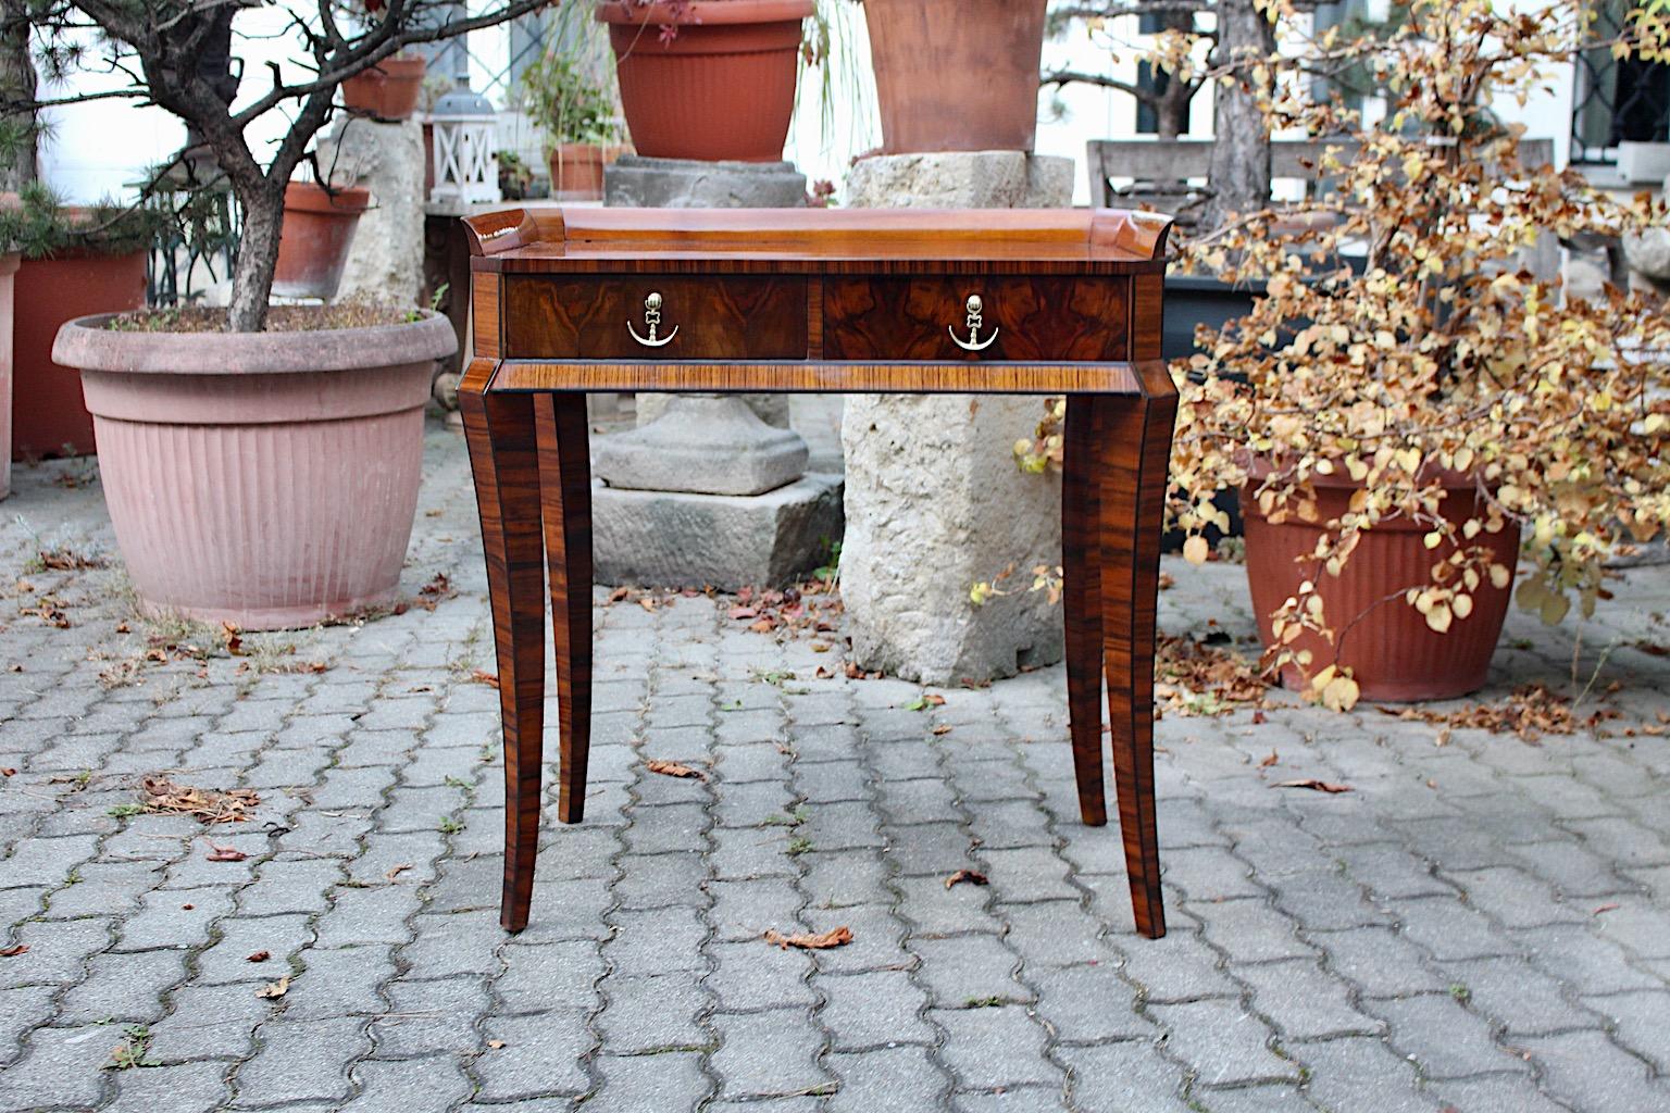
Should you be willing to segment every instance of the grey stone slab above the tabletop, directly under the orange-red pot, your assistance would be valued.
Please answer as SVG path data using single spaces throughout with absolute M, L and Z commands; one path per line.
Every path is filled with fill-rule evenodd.
M 792 162 L 703 162 L 621 155 L 603 169 L 616 209 L 798 209 L 807 175 Z

